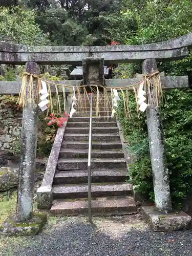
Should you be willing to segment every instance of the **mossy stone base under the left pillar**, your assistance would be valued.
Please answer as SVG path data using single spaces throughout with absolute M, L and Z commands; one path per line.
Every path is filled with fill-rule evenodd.
M 44 213 L 34 214 L 25 222 L 18 222 L 15 218 L 8 218 L 0 226 L 0 234 L 5 236 L 32 236 L 41 232 L 46 224 L 48 215 Z

